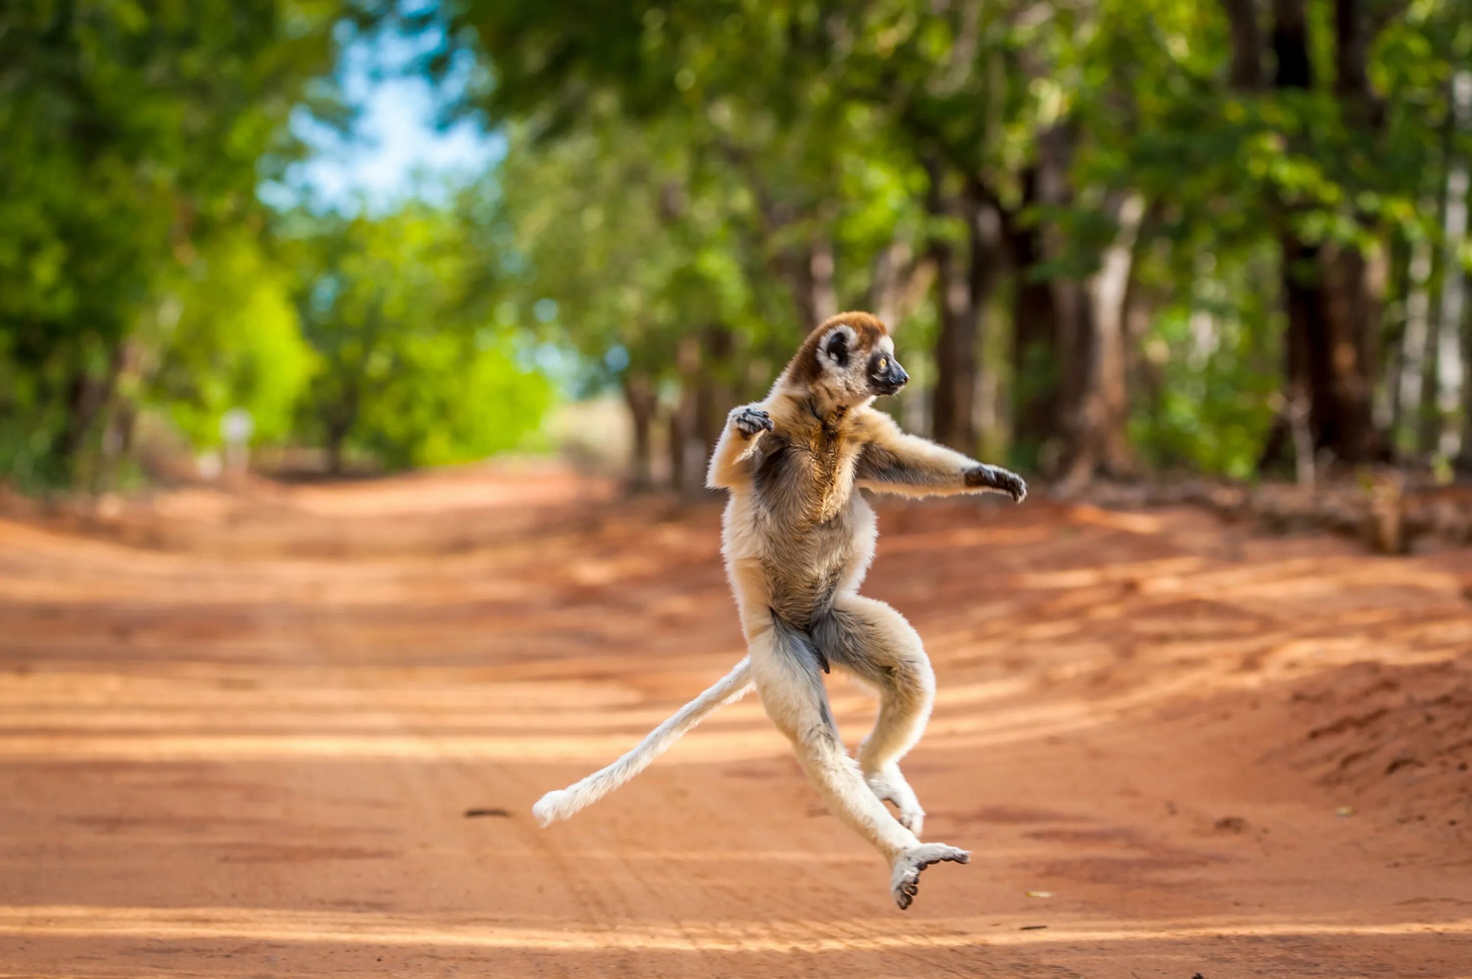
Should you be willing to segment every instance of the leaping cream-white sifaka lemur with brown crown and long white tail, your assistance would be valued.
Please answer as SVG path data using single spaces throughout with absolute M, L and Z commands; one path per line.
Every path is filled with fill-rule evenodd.
M 623 758 L 542 796 L 533 807 L 542 826 L 618 788 L 702 717 L 755 686 L 829 810 L 889 861 L 901 908 L 910 907 L 927 866 L 970 860 L 964 849 L 919 838 L 924 810 L 898 763 L 930 717 L 935 674 L 904 615 L 858 593 L 874 556 L 876 524 L 854 490 L 991 490 L 1022 502 L 1027 487 L 1007 470 L 905 434 L 871 408 L 907 380 L 885 324 L 845 312 L 808 334 L 765 400 L 730 412 L 707 483 L 730 492 L 721 540 L 746 657 Z M 829 711 L 823 674 L 830 665 L 879 690 L 879 715 L 857 760 Z

